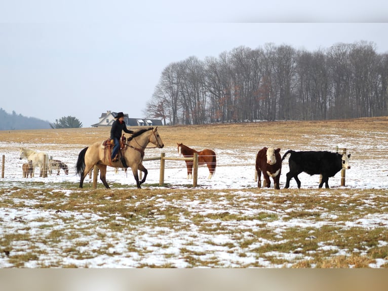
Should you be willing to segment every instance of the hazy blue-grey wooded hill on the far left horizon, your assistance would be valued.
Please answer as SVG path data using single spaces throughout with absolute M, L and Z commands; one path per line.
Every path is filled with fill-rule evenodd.
M 3 108 L 0 108 L 0 130 L 14 129 L 47 129 L 50 127 L 50 122 L 34 117 L 25 117 L 21 114 L 7 113 Z

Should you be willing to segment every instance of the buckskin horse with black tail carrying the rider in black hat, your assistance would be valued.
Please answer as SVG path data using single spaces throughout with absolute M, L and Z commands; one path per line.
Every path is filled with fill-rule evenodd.
M 160 149 L 164 147 L 163 141 L 158 133 L 158 127 L 155 129 L 153 129 L 153 127 L 140 129 L 133 133 L 126 143 L 124 162 L 128 167 L 131 167 L 133 176 L 136 180 L 137 188 L 141 188 L 140 185 L 144 183 L 145 178 L 147 177 L 148 171 L 143 166 L 142 161 L 144 157 L 144 150 L 149 142 L 153 143 Z M 82 188 L 84 179 L 88 175 L 89 171 L 94 167 L 94 165 L 97 165 L 101 172 L 100 179 L 104 186 L 109 189 L 105 179 L 106 166 L 113 168 L 126 168 L 121 159 L 117 162 L 109 161 L 109 155 L 110 150 L 106 149 L 102 145 L 101 141 L 93 143 L 90 147 L 87 147 L 80 152 L 76 164 L 77 174 L 81 175 L 80 188 Z M 144 172 L 144 177 L 141 181 L 139 181 L 137 170 Z

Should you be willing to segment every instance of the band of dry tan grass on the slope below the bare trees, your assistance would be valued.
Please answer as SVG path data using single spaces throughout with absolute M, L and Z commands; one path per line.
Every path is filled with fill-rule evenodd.
M 160 126 L 158 129 L 165 145 L 168 146 L 175 146 L 177 142 L 190 143 L 195 140 L 197 145 L 203 147 L 209 144 L 214 148 L 258 147 L 261 144 L 274 144 L 286 149 L 291 145 L 308 143 L 312 136 L 338 134 L 344 138 L 357 138 L 371 133 L 387 133 L 388 117 Z M 0 140 L 89 145 L 96 140 L 109 137 L 109 131 L 110 128 L 4 130 L 0 131 Z

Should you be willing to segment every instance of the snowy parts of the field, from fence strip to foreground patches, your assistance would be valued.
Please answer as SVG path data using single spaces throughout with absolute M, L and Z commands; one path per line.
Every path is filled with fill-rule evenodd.
M 377 136 L 376 140 L 383 138 L 387 139 L 386 134 L 384 136 Z M 336 138 L 333 137 L 332 140 Z M 324 144 L 324 140 L 326 144 Z M 340 172 L 338 172 L 334 177 L 329 178 L 329 186 L 334 189 L 344 189 L 344 193 L 341 195 L 346 198 L 346 189 L 387 189 L 388 191 L 388 144 L 379 143 L 376 147 L 375 140 L 370 139 L 365 140 L 353 140 L 350 142 L 352 147 L 346 145 L 340 145 L 341 147 L 346 147 L 347 152 L 350 153 L 350 165 L 351 169 L 346 170 L 346 186 L 340 188 Z M 68 185 L 78 185 L 80 177 L 75 175 L 75 163 L 78 153 L 83 149 L 83 146 L 79 147 L 74 145 L 61 145 L 58 144 L 24 144 L 24 147 L 35 149 L 35 150 L 47 150 L 49 156 L 54 159 L 61 160 L 66 163 L 69 167 L 69 175 L 65 175 L 63 171 L 60 172 L 60 175 L 55 174 L 49 175 L 47 178 L 40 178 L 38 172 L 35 172 L 34 178 L 23 178 L 21 166 L 26 160 L 19 160 L 19 144 L 17 143 L 2 143 L 0 142 L 2 149 L 1 155 L 5 155 L 5 177 L 0 180 L 0 188 L 2 189 L 12 189 L 16 188 L 28 188 L 30 187 L 29 183 L 31 181 L 37 181 L 43 183 L 41 188 L 55 188 L 59 181 Z M 63 149 L 60 149 L 63 148 Z M 195 145 L 193 148 L 196 148 Z M 327 137 L 322 137 L 321 141 L 317 141 L 316 144 L 309 145 L 308 148 L 304 150 L 330 150 L 335 151 L 336 144 L 334 141 L 327 141 Z M 297 148 L 292 148 L 293 150 L 299 150 Z M 228 211 L 230 213 L 244 213 L 244 215 L 256 215 L 257 208 L 250 208 L 252 201 L 256 201 L 257 197 L 261 197 L 263 201 L 268 199 L 268 197 L 277 195 L 284 196 L 288 195 L 287 190 L 283 190 L 285 185 L 286 173 L 288 172 L 288 159 L 283 161 L 282 175 L 280 179 L 280 191 L 273 190 L 273 180 L 271 179 L 271 189 L 262 189 L 260 192 L 257 192 L 255 189 L 257 182 L 254 180 L 255 171 L 254 171 L 254 161 L 255 156 L 259 148 L 244 148 L 244 149 L 213 149 L 217 154 L 217 169 L 215 176 L 208 180 L 208 169 L 204 166 L 199 168 L 198 173 L 198 187 L 196 189 L 211 189 L 216 191 L 215 200 L 217 203 L 214 203 L 215 200 L 209 202 L 199 202 L 194 200 L 185 199 L 182 196 L 182 199 L 175 199 L 173 202 L 166 199 L 164 196 L 154 197 L 160 208 L 168 207 L 181 207 L 182 211 L 190 211 L 191 213 L 199 213 L 202 215 L 208 215 L 209 213 L 218 213 L 220 211 Z M 288 149 L 282 149 L 281 155 Z M 166 157 L 178 157 L 176 147 L 166 147 L 164 149 L 147 149 L 145 152 L 145 158 L 157 157 L 164 152 Z M 381 153 L 381 154 L 379 154 Z M 143 185 L 143 188 L 147 188 L 147 185 L 157 185 L 159 184 L 159 161 L 145 161 L 143 162 L 144 166 L 148 169 L 148 176 Z M 186 168 L 183 161 L 166 161 L 166 171 L 165 171 L 165 183 L 168 185 L 168 188 L 171 189 L 182 189 L 185 191 L 187 185 L 191 184 L 191 180 L 187 180 Z M 301 196 L 309 196 L 311 193 L 318 195 L 320 197 L 331 197 L 331 190 L 322 189 L 318 191 L 319 185 L 319 176 L 309 176 L 305 173 L 299 175 L 301 180 Z M 108 184 L 119 183 L 123 189 L 128 189 L 128 191 L 136 197 L 135 189 L 135 180 L 132 175 L 132 172 L 129 170 L 128 174 L 120 170 L 118 173 L 114 173 L 113 168 L 108 168 L 107 172 L 107 182 Z M 92 180 L 89 178 L 85 179 L 84 185 L 92 183 Z M 53 186 L 55 185 L 55 186 Z M 130 186 L 130 187 L 129 187 Z M 98 180 L 98 188 L 101 189 L 102 183 Z M 117 187 L 116 187 L 117 188 Z M 163 187 L 152 188 L 164 189 Z M 291 180 L 290 184 L 291 189 L 296 188 L 296 183 L 294 180 Z M 120 188 L 121 189 L 121 188 Z M 232 195 L 236 201 L 241 201 L 241 207 L 231 206 L 229 201 L 224 198 L 224 191 L 232 189 Z M 252 189 L 252 191 L 241 191 L 243 189 Z M 253 191 L 254 190 L 254 191 Z M 70 195 L 72 191 L 68 189 L 57 189 L 54 191 L 64 191 L 66 195 Z M 78 190 L 76 190 L 78 191 Z M 91 191 L 91 190 L 85 190 Z M 112 187 L 111 190 L 114 192 Z M 10 191 L 9 193 L 12 193 Z M 252 200 L 251 200 L 252 199 Z M 38 202 L 39 197 L 31 198 L 29 203 L 34 205 Z M 0 205 L 7 203 L 9 201 L 8 194 L 4 194 L 0 197 Z M 17 204 L 18 201 L 13 201 Z M 24 201 L 24 203 L 26 203 Z M 269 202 L 268 202 L 269 203 Z M 366 201 L 365 203 L 369 203 Z M 236 205 L 236 204 L 233 204 Z M 387 205 L 386 205 L 387 206 Z M 234 208 L 235 207 L 235 208 Z M 291 211 L 296 205 L 289 205 L 287 211 Z M 311 221 L 309 219 L 283 219 L 287 211 L 284 209 L 274 209 L 273 213 L 278 217 L 275 221 L 257 221 L 257 220 L 245 220 L 245 221 L 236 221 L 236 222 L 225 222 L 225 227 L 228 229 L 239 228 L 246 229 L 244 235 L 247 238 L 253 238 L 253 233 L 262 228 L 271 229 L 274 232 L 279 233 L 279 241 L 274 241 L 273 243 L 279 243 L 282 241 L 281 234 L 288 228 L 313 228 L 316 229 L 316 232 L 312 231 L 311 237 L 319 233 L 319 229 L 325 225 L 333 225 L 332 221 L 334 213 L 325 213 L 324 209 L 321 209 L 317 205 L 316 209 L 312 211 L 319 211 L 321 217 L 327 217 L 327 220 L 317 224 L 316 221 Z M 256 214 L 255 214 L 256 213 Z M 69 226 L 65 223 L 63 217 L 77 216 L 78 223 L 73 226 Z M 157 215 L 156 215 L 157 217 Z M 163 220 L 163 217 L 158 217 L 158 219 Z M 71 212 L 63 211 L 59 212 L 54 210 L 45 210 L 45 209 L 36 209 L 28 207 L 0 207 L 0 233 L 10 234 L 16 232 L 28 232 L 32 237 L 33 236 L 45 236 L 46 232 L 50 232 L 52 228 L 60 230 L 63 232 L 68 232 L 74 228 L 82 229 L 85 225 L 90 223 L 95 224 L 95 229 L 89 235 L 83 238 L 77 238 L 75 240 L 63 239 L 60 243 L 55 246 L 47 247 L 44 244 L 40 245 L 41 248 L 46 248 L 46 255 L 41 256 L 37 260 L 30 260 L 27 262 L 24 267 L 26 268 L 39 268 L 43 266 L 50 266 L 50 264 L 57 264 L 60 266 L 72 265 L 77 267 L 90 267 L 90 268 L 122 268 L 122 267 L 141 267 L 141 266 L 171 266 L 177 268 L 187 268 L 193 267 L 186 260 L 182 258 L 181 250 L 184 248 L 186 251 L 191 251 L 192 253 L 198 253 L 204 261 L 208 261 L 210 258 L 217 258 L 218 267 L 246 267 L 251 266 L 253 262 L 258 263 L 259 266 L 264 268 L 279 268 L 279 267 L 290 267 L 295 260 L 302 259 L 308 260 L 307 257 L 301 257 L 297 254 L 297 251 L 294 253 L 270 253 L 266 256 L 278 256 L 283 260 L 289 260 L 289 264 L 280 263 L 273 264 L 269 263 L 266 260 L 265 256 L 258 257 L 257 253 L 251 252 L 249 247 L 242 248 L 238 246 L 236 241 L 238 240 L 231 234 L 228 233 L 217 233 L 214 234 L 206 233 L 202 234 L 198 226 L 192 224 L 191 222 L 182 222 L 188 224 L 188 230 L 174 230 L 172 227 L 165 228 L 151 228 L 145 224 L 142 228 L 129 229 L 128 231 L 116 233 L 110 232 L 107 226 L 98 223 L 102 220 L 99 214 L 96 213 L 86 213 L 86 212 Z M 182 218 L 182 220 L 184 220 Z M 42 228 L 41 225 L 48 222 L 51 223 L 52 228 Z M 125 224 L 125 217 L 116 217 L 118 224 Z M 222 222 L 221 222 L 222 223 Z M 352 227 L 357 225 L 368 230 L 373 228 L 383 227 L 388 228 L 388 212 L 379 214 L 379 215 L 369 215 L 365 214 L 363 217 L 359 217 L 356 221 L 346 221 L 341 222 L 344 227 Z M 24 230 L 28 226 L 28 230 Z M 98 235 L 99 233 L 104 233 L 104 235 Z M 193 236 L 192 234 L 196 235 Z M 241 238 L 239 238 L 241 239 Z M 250 247 L 254 248 L 255 246 L 268 243 L 264 238 L 256 238 L 257 242 L 252 244 Z M 80 252 L 89 252 L 90 258 L 77 260 L 74 257 L 62 257 L 61 252 L 64 248 L 72 245 L 74 241 L 88 241 L 84 246 L 79 247 Z M 379 240 L 379 245 L 384 246 L 388 243 L 386 237 L 382 237 Z M 22 253 L 30 248 L 30 245 L 34 244 L 32 241 L 19 241 L 14 242 L 13 250 Z M 114 253 L 114 256 L 109 256 L 108 254 L 98 254 L 97 249 L 100 249 L 102 246 L 110 245 L 108 251 Z M 135 252 L 129 250 L 129 244 L 136 246 L 137 249 L 141 249 L 142 252 Z M 160 247 L 163 245 L 164 247 Z M 225 245 L 232 245 L 225 246 Z M 36 247 L 36 246 L 35 246 Z M 330 248 L 336 250 L 336 255 L 350 255 L 353 250 L 349 250 L 343 247 L 338 247 L 335 245 L 322 245 L 321 248 Z M 231 251 L 232 250 L 232 251 Z M 0 251 L 2 251 L 0 249 Z M 244 256 L 241 256 L 241 253 L 244 252 Z M 362 252 L 362 251 L 361 251 Z M 60 263 L 58 263 L 60 261 Z M 378 259 L 369 266 L 372 268 L 378 268 L 381 265 L 387 263 L 386 259 Z M 0 268 L 13 267 L 9 261 L 9 257 L 4 253 L 0 253 Z M 198 267 L 196 265 L 195 267 Z M 202 267 L 212 267 L 212 265 L 206 264 Z M 314 266 L 312 266 L 314 267 Z M 352 266 L 349 266 L 352 267 Z

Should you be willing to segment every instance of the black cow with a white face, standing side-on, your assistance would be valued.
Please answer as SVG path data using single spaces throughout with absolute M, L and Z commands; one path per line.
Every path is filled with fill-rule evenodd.
M 282 158 L 291 154 L 288 159 L 288 165 L 290 171 L 286 174 L 286 186 L 284 188 L 290 187 L 290 180 L 294 178 L 300 188 L 300 180 L 298 175 L 301 172 L 306 172 L 309 175 L 322 175 L 322 181 L 319 184 L 319 188 L 322 188 L 325 183 L 325 187 L 329 188 L 329 177 L 333 177 L 341 169 L 350 169 L 349 158 L 351 155 L 330 153 L 330 152 L 295 152 L 287 151 Z

